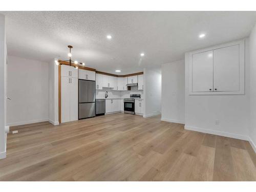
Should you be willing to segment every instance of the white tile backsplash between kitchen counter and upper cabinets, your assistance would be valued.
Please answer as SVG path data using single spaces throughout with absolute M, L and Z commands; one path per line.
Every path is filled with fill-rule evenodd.
M 108 98 L 129 98 L 130 94 L 140 94 L 143 98 L 143 90 L 137 90 L 137 87 L 131 87 L 131 91 L 114 91 L 111 88 L 103 88 L 102 90 L 96 90 L 96 99 L 104 99 L 105 93 L 108 91 Z

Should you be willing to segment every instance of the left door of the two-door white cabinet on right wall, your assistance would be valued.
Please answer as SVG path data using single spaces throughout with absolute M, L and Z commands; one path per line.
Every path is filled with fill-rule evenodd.
M 213 91 L 213 51 L 192 55 L 193 92 Z

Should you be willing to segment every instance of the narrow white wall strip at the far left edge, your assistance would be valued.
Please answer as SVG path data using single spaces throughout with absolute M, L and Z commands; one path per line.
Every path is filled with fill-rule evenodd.
M 0 159 L 6 157 L 6 51 L 5 16 L 0 14 Z

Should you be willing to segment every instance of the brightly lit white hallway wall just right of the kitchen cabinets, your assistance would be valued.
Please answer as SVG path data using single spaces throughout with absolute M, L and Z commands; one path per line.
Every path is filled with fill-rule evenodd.
M 144 115 L 151 117 L 161 113 L 161 71 L 144 69 Z

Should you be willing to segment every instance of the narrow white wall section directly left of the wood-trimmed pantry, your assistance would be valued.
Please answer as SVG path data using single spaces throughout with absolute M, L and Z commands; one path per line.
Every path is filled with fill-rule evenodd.
M 58 66 L 55 65 L 55 60 L 58 59 L 49 62 L 49 121 L 58 125 Z

